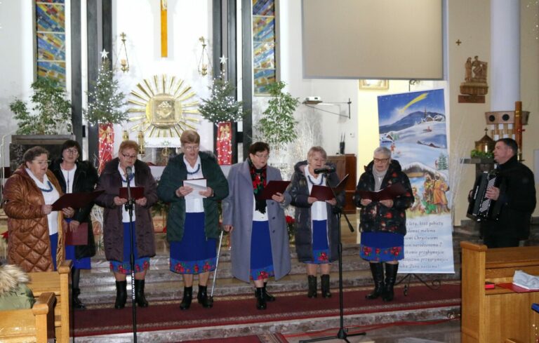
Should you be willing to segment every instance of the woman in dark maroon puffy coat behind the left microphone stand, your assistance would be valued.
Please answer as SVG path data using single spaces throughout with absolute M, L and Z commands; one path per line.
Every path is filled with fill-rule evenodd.
M 105 190 L 95 203 L 103 212 L 103 241 L 105 257 L 116 279 L 115 309 L 123 309 L 127 300 L 126 276 L 131 274 L 131 251 L 135 257 L 135 302 L 147 307 L 144 294 L 149 257 L 155 255 L 154 224 L 150 208 L 157 201 L 157 184 L 149 166 L 137 159 L 138 144 L 132 140 L 121 142 L 118 157 L 107 162 L 96 190 Z M 119 196 L 121 187 L 144 187 L 144 194 L 133 203 L 133 249 L 131 249 L 130 216 L 127 199 Z

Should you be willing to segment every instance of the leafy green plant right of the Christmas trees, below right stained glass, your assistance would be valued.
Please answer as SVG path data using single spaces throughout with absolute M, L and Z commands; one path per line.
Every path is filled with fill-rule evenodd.
M 295 130 L 298 121 L 294 118 L 294 111 L 300 105 L 300 100 L 283 92 L 285 86 L 284 81 L 267 86 L 272 98 L 267 102 L 267 109 L 262 112 L 262 119 L 255 126 L 259 133 L 257 139 L 270 144 L 276 152 L 298 137 Z

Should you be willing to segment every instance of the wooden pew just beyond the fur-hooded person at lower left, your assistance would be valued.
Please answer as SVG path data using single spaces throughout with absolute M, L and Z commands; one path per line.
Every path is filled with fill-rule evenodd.
M 28 273 L 28 287 L 34 292 L 34 297 L 39 297 L 44 292 L 53 292 L 56 296 L 54 327 L 56 342 L 59 343 L 69 343 L 71 266 L 72 261 L 66 260 L 60 264 L 58 271 Z

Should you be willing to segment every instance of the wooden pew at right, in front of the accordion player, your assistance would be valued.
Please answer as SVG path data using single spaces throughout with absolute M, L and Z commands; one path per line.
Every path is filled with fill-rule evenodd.
M 531 304 L 539 292 L 518 293 L 485 281 L 511 283 L 515 270 L 539 275 L 539 246 L 488 249 L 467 241 L 462 248 L 463 343 L 535 342 L 539 315 Z

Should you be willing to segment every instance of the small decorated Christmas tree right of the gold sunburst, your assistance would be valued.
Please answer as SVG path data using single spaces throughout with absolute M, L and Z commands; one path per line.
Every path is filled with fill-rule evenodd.
M 225 79 L 225 72 L 221 72 L 220 77 L 213 80 L 210 97 L 202 99 L 200 114 L 215 125 L 226 121 L 241 121 L 244 102 L 236 100 L 235 90 Z

